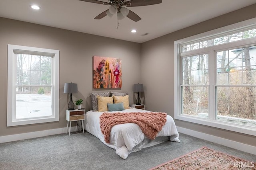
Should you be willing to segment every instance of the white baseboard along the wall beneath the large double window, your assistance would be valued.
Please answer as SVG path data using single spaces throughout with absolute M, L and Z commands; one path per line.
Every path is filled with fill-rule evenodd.
M 252 145 L 247 145 L 244 143 L 231 141 L 229 139 L 216 137 L 213 135 L 209 135 L 209 134 L 198 132 L 198 131 L 193 131 L 193 130 L 186 129 L 183 127 L 177 127 L 177 130 L 178 130 L 178 132 L 184 133 L 186 135 L 190 135 L 193 137 L 197 137 L 199 139 L 204 139 L 206 141 L 214 142 L 214 143 L 217 143 L 220 145 L 224 145 L 226 147 L 230 147 L 230 148 L 237 149 L 237 150 L 242 150 L 244 152 L 256 155 L 256 147 L 254 147 Z

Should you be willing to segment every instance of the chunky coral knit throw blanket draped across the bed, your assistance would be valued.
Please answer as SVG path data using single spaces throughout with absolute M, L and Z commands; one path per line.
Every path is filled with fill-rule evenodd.
M 166 113 L 160 112 L 132 112 L 132 113 L 102 113 L 100 115 L 100 129 L 106 143 L 110 143 L 110 131 L 114 125 L 136 123 L 149 139 L 155 139 L 157 133 L 166 123 Z

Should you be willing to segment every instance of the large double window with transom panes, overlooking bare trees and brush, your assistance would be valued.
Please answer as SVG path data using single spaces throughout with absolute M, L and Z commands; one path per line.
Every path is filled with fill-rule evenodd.
M 174 42 L 174 117 L 256 136 L 256 18 Z

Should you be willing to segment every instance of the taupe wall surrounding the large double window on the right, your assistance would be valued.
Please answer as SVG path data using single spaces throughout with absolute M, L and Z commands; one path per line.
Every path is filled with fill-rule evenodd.
M 256 17 L 256 4 L 164 35 L 142 44 L 141 78 L 145 85 L 146 109 L 165 111 L 174 117 L 174 41 Z M 214 127 L 175 120 L 194 131 L 256 146 L 256 137 Z

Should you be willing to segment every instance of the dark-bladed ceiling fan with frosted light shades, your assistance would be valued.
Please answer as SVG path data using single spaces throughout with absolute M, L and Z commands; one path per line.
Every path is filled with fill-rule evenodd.
M 99 0 L 80 0 L 84 2 L 92 2 L 96 4 L 102 4 L 102 5 L 110 5 L 108 10 L 102 12 L 98 16 L 96 16 L 94 19 L 100 20 L 105 16 L 110 16 L 117 13 L 117 19 L 122 20 L 124 17 L 128 17 L 131 20 L 137 22 L 141 20 L 141 18 L 132 12 L 131 10 L 128 10 L 126 7 L 134 7 L 134 6 L 147 6 L 147 5 L 154 5 L 154 4 L 160 4 L 162 3 L 162 0 L 108 0 L 108 2 L 103 2 Z

